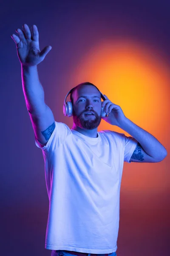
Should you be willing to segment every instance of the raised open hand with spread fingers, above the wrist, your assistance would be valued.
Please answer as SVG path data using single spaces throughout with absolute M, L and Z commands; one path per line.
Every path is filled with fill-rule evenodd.
M 42 51 L 39 47 L 39 33 L 36 25 L 32 26 L 32 32 L 27 24 L 23 24 L 23 30 L 16 29 L 19 36 L 12 34 L 17 47 L 17 55 L 22 65 L 36 66 L 44 60 L 51 46 L 46 46 Z

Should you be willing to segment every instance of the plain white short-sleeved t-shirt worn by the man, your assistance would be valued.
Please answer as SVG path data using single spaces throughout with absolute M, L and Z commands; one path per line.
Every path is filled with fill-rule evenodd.
M 85 136 L 55 121 L 41 147 L 49 212 L 45 248 L 82 253 L 113 253 L 119 231 L 120 185 L 124 161 L 137 140 L 115 131 Z

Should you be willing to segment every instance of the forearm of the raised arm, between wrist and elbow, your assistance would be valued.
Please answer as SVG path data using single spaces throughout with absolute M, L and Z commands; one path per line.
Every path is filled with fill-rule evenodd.
M 44 90 L 38 77 L 37 66 L 21 65 L 21 77 L 28 111 L 41 113 L 45 109 Z

